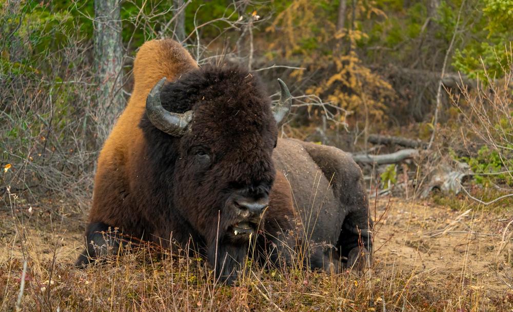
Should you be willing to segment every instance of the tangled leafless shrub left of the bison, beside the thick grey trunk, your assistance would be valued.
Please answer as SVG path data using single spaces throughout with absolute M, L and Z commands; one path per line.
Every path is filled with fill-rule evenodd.
M 2 167 L 12 166 L 0 176 L 0 195 L 10 185 L 18 194 L 80 203 L 90 191 L 96 149 L 88 46 L 64 26 L 22 23 L 29 12 L 11 9 L 0 12 L 0 50 L 9 51 L 0 63 L 0 151 Z M 56 33 L 64 36 L 58 47 L 33 51 Z

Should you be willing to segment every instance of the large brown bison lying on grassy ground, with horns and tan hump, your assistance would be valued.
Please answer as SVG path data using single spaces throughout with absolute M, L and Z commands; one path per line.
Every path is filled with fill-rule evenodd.
M 133 76 L 128 106 L 98 158 L 76 266 L 117 252 L 119 240 L 104 235 L 112 228 L 164 247 L 193 241 L 228 282 L 250 240 L 267 255 L 257 261 L 290 262 L 301 249 L 312 269 L 330 272 L 369 255 L 361 170 L 336 148 L 278 138 L 291 106 L 283 81 L 271 106 L 257 75 L 200 68 L 171 39 L 145 43 Z

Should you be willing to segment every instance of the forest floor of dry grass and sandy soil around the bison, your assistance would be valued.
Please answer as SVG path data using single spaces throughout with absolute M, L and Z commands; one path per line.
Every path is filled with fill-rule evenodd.
M 139 252 L 75 269 L 84 217 L 65 214 L 62 203 L 46 207 L 0 210 L 0 311 L 513 310 L 513 242 L 504 239 L 511 209 L 371 199 L 376 248 L 366 273 L 254 267 L 229 287 L 215 284 L 204 261 L 189 257 Z M 23 254 L 28 268 L 18 299 Z

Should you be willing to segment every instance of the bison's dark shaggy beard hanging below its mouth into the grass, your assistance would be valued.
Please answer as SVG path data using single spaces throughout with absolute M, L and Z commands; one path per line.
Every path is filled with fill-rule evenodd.
M 208 259 L 214 267 L 215 278 L 233 284 L 245 266 L 248 246 L 249 240 L 234 242 L 223 237 L 218 244 L 214 240 L 208 248 Z

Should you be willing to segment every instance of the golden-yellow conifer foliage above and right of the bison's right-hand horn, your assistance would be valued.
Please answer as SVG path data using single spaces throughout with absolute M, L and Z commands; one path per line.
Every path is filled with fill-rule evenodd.
M 270 49 L 286 59 L 301 59 L 304 70 L 294 70 L 290 76 L 301 80 L 305 73 L 322 73 L 321 79 L 306 88 L 307 94 L 319 95 L 333 105 L 353 112 L 365 112 L 373 121 L 383 120 L 385 101 L 394 98 L 390 84 L 367 68 L 359 58 L 357 43 L 366 39 L 365 32 L 356 27 L 337 31 L 322 9 L 326 0 L 312 2 L 295 0 L 278 14 L 266 31 L 280 34 L 280 40 Z M 348 7 L 348 11 L 351 8 Z M 372 14 L 386 17 L 373 1 L 356 6 L 356 19 L 370 18 Z M 348 13 L 351 16 L 352 12 Z M 317 48 L 308 46 L 314 38 Z M 310 40 L 310 41 L 309 41 Z M 305 44 L 306 42 L 306 44 Z M 341 117 L 344 119 L 344 117 Z

